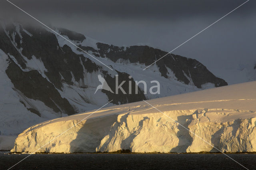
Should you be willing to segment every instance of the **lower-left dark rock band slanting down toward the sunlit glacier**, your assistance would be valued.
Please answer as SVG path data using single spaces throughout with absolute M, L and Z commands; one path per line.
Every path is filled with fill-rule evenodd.
M 44 102 L 46 106 L 52 108 L 56 113 L 60 112 L 59 108 L 62 108 L 62 112 L 68 115 L 75 113 L 67 99 L 62 98 L 52 83 L 43 78 L 38 71 L 22 71 L 11 58 L 9 58 L 9 61 L 10 63 L 6 69 L 6 74 L 17 90 L 21 91 L 30 99 Z M 38 111 L 36 112 L 35 109 L 30 109 L 30 111 L 40 114 Z

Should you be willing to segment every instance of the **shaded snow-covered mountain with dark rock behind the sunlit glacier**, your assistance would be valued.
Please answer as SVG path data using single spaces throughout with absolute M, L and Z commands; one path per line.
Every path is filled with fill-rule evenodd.
M 118 47 L 64 28 L 55 30 L 113 71 L 46 28 L 2 21 L 1 135 L 18 135 L 36 123 L 96 109 L 111 100 L 110 105 L 119 105 L 227 85 L 195 59 L 169 54 L 143 71 L 167 52 L 148 46 Z M 115 89 L 118 75 L 118 83 L 126 81 L 122 86 L 125 91 L 129 81 L 135 85 L 135 81 L 144 80 L 150 85 L 157 80 L 160 94 L 144 94 L 142 83 L 138 94 L 135 86 L 132 94 L 103 89 L 94 94 L 100 85 L 98 75 L 111 89 Z

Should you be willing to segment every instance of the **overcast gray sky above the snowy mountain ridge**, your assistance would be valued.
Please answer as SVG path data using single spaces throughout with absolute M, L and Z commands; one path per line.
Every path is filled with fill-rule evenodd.
M 10 1 L 48 25 L 102 42 L 171 51 L 246 0 Z M 33 20 L 5 0 L 1 3 L 1 17 Z M 237 63 L 256 63 L 255 9 L 256 1 L 250 0 L 173 53 L 195 58 L 212 72 Z

